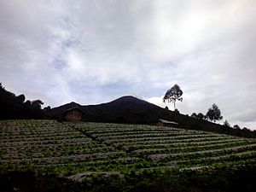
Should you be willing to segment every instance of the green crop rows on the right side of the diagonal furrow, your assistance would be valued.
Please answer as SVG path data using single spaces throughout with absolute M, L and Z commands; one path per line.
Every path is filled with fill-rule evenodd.
M 84 126 L 83 126 L 84 125 Z M 191 166 L 218 160 L 250 160 L 255 158 L 256 140 L 230 137 L 205 131 L 147 125 L 76 125 L 76 129 L 98 141 L 131 152 L 131 155 L 161 164 Z M 124 127 L 122 127 L 124 126 Z M 109 128 L 110 127 L 110 128 Z M 139 128 L 138 128 L 139 127 Z M 156 130 L 158 129 L 158 130 Z M 172 161 L 170 161 L 172 160 Z M 194 160 L 194 161 L 193 161 Z M 178 162 L 178 163 L 174 163 Z M 171 165 L 166 164 L 166 165 Z M 165 165 L 164 165 L 165 166 Z

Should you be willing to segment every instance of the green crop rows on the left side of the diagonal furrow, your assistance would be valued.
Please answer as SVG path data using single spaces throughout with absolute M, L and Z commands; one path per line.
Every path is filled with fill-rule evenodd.
M 45 127 L 38 126 L 40 121 L 29 122 L 32 123 L 27 123 L 23 128 L 22 126 L 14 126 L 11 122 L 9 125 L 0 123 L 0 129 L 3 133 L 0 145 L 1 169 L 8 167 L 11 170 L 12 167 L 20 167 L 26 170 L 28 167 L 38 166 L 39 168 L 47 167 L 47 169 L 54 171 L 53 167 L 58 167 L 55 165 L 61 165 L 63 170 L 68 167 L 68 169 L 71 169 L 70 165 L 76 165 L 73 166 L 73 172 L 77 172 L 83 169 L 99 168 L 97 166 L 90 167 L 91 163 L 95 163 L 98 166 L 105 165 L 105 167 L 108 166 L 109 168 L 113 165 L 101 162 L 111 161 L 113 163 L 115 162 L 114 160 L 120 162 L 120 157 L 131 159 L 124 151 L 93 141 L 90 137 L 86 137 L 69 125 L 49 121 L 45 124 Z M 17 122 L 15 121 L 15 123 Z M 20 124 L 22 123 L 23 121 Z M 125 162 L 128 163 L 129 159 L 124 161 L 124 165 L 126 164 Z M 89 166 L 83 166 L 86 163 Z M 132 162 L 130 163 L 132 164 Z M 80 168 L 78 169 L 78 167 Z

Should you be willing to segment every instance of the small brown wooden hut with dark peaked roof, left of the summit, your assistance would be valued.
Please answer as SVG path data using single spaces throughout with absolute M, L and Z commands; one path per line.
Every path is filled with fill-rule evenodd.
M 83 113 L 81 108 L 69 108 L 62 113 L 62 119 L 70 122 L 79 122 L 82 120 Z

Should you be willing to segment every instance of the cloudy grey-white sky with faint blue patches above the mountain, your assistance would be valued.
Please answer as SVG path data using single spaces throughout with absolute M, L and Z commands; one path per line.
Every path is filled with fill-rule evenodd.
M 1 0 L 0 82 L 52 108 L 137 96 L 256 130 L 255 0 Z M 221 123 L 221 122 L 219 122 Z

